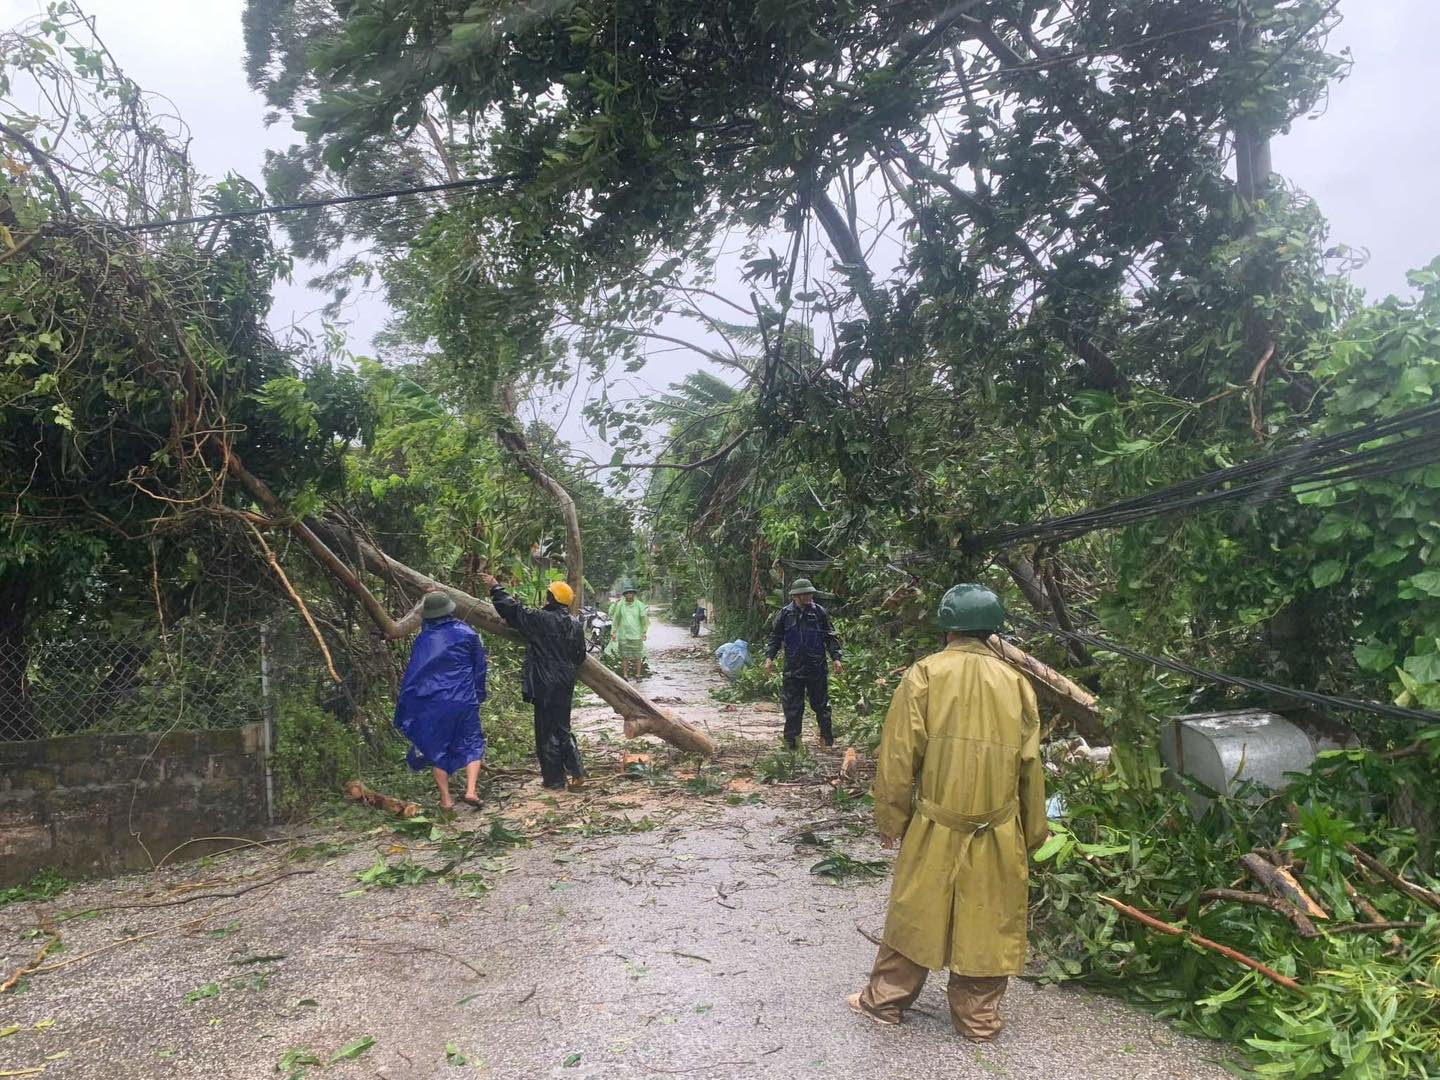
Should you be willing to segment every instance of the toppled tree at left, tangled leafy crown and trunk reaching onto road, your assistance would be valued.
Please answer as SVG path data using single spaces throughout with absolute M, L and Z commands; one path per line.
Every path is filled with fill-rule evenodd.
M 251 207 L 258 193 L 229 180 L 197 194 L 181 132 L 151 118 L 143 92 L 98 43 L 82 46 L 94 65 L 84 78 L 58 65 L 45 36 L 66 32 L 85 35 L 88 23 L 62 19 L 6 40 L 7 71 L 49 81 L 59 88 L 55 99 L 86 122 L 9 107 L 0 117 L 0 287 L 10 297 L 0 308 L 0 351 L 10 357 L 0 376 L 0 580 L 33 576 L 39 560 L 79 547 L 89 563 L 73 573 L 128 562 L 160 602 L 161 579 L 184 562 L 180 553 L 193 557 L 204 537 L 239 533 L 262 556 L 252 573 L 274 572 L 310 619 L 264 540 L 285 530 L 387 636 L 413 631 L 418 621 L 392 619 L 364 577 L 379 575 L 405 606 L 448 586 L 392 559 L 350 518 L 315 521 L 294 508 L 343 494 L 347 445 L 374 418 L 360 374 L 324 364 L 305 372 L 266 331 L 271 279 L 288 265 L 266 229 L 255 219 L 219 219 L 150 240 L 124 228 L 196 203 Z M 46 130 L 53 138 L 36 134 Z M 333 550 L 321 539 L 327 531 L 344 544 Z M 511 636 L 488 603 L 455 592 L 467 618 Z M 595 660 L 580 678 L 629 733 L 714 750 L 708 736 Z M 19 684 L 0 693 L 19 697 Z

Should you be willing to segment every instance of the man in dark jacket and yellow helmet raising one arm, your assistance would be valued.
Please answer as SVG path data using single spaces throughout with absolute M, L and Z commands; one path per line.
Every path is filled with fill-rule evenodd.
M 585 776 L 580 749 L 570 732 L 570 700 L 575 672 L 585 660 L 585 629 L 570 615 L 575 598 L 564 582 L 552 582 L 546 605 L 536 611 L 507 593 L 488 573 L 480 577 L 490 589 L 490 602 L 507 624 L 526 639 L 521 693 L 536 707 L 536 757 L 546 788 L 564 791 L 564 775 Z

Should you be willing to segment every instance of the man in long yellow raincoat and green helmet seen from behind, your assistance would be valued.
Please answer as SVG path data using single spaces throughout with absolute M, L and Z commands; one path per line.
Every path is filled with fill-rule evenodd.
M 906 672 L 886 714 L 876 824 L 900 855 L 870 984 L 848 999 L 881 1024 L 949 969 L 955 1030 L 991 1040 L 1025 965 L 1028 857 L 1048 825 L 1035 693 L 985 645 L 1004 619 L 989 589 L 945 593 L 945 651 Z

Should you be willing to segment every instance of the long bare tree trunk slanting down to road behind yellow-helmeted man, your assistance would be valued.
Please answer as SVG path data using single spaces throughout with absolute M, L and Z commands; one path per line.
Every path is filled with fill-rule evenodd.
M 361 540 L 343 526 L 310 523 L 310 527 L 320 534 L 336 537 L 343 550 L 357 552 L 366 566 L 384 580 L 395 582 L 412 593 L 439 589 L 455 600 L 455 615 L 471 626 L 482 629 L 485 634 L 510 638 L 511 641 L 520 639 L 488 600 L 471 596 L 464 589 L 455 589 L 444 582 L 438 582 L 415 567 L 392 559 L 379 547 Z M 668 708 L 654 704 L 635 690 L 635 687 L 595 660 L 595 657 L 586 657 L 577 674 L 585 685 L 599 694 L 605 704 L 619 713 L 625 721 L 626 739 L 654 734 L 671 746 L 678 746 L 681 750 L 698 753 L 706 757 L 714 755 L 716 743 L 708 734 L 675 716 Z

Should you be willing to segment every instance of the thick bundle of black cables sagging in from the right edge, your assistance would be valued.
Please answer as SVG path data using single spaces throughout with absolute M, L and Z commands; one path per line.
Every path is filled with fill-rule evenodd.
M 1378 446 L 1365 444 L 1381 442 Z M 995 528 L 965 541 L 971 553 L 1021 541 L 1074 540 L 1148 517 L 1225 503 L 1256 505 L 1286 494 L 1388 475 L 1440 462 L 1440 403 L 1411 409 L 1338 435 L 1309 439 L 1264 458 L 1207 472 L 1094 510 Z

